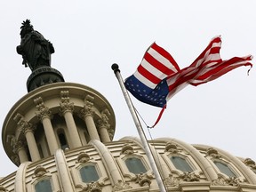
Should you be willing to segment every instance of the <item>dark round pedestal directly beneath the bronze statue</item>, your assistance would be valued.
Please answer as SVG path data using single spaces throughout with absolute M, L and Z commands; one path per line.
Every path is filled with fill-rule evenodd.
M 27 89 L 28 92 L 35 90 L 36 88 L 43 86 L 44 84 L 52 84 L 57 82 L 65 82 L 60 71 L 48 66 L 36 68 L 28 76 Z

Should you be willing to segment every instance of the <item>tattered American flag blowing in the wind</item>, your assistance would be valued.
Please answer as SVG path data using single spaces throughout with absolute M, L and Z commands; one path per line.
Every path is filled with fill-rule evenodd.
M 151 44 L 135 73 L 125 80 L 125 87 L 138 100 L 164 108 L 188 84 L 207 83 L 240 66 L 252 68 L 251 55 L 221 60 L 220 47 L 220 36 L 212 38 L 190 66 L 180 69 L 169 52 L 156 43 Z

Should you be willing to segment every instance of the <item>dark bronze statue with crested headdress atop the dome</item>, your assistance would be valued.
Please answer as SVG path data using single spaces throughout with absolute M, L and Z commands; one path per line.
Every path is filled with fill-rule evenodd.
M 43 66 L 51 67 L 51 54 L 54 52 L 52 43 L 34 30 L 30 20 L 23 21 L 20 29 L 21 42 L 16 50 L 22 55 L 22 64 L 32 71 Z

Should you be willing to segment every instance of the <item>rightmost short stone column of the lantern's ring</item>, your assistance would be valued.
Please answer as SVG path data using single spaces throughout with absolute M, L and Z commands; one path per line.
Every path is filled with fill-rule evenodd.
M 108 133 L 108 130 L 110 128 L 110 124 L 108 124 L 108 116 L 110 116 L 110 113 L 106 108 L 104 111 L 101 112 L 101 118 L 98 120 L 100 139 L 102 142 L 111 141 Z

